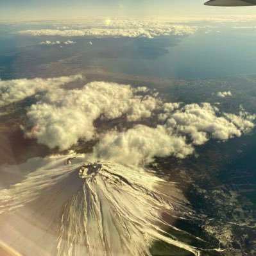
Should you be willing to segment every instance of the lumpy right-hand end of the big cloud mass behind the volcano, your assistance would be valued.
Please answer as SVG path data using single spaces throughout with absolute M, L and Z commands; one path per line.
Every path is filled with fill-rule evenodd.
M 211 137 L 226 141 L 232 137 L 240 137 L 242 133 L 252 130 L 254 115 L 240 113 L 231 115 L 221 113 L 218 108 L 209 103 L 190 104 L 170 113 L 164 124 L 167 130 L 189 135 L 192 144 L 201 145 Z

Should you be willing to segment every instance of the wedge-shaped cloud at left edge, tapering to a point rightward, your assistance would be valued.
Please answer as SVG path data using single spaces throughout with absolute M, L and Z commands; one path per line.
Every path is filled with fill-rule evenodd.
M 62 76 L 59 78 L 34 78 L 0 80 L 0 107 L 20 101 L 38 92 L 55 89 L 60 85 L 81 79 L 81 75 Z

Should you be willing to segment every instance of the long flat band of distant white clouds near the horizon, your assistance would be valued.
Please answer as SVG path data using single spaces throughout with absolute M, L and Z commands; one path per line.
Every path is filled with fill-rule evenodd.
M 158 37 L 161 35 L 190 35 L 198 26 L 173 24 L 168 21 L 112 19 L 84 26 L 57 27 L 56 29 L 22 30 L 20 35 L 60 37 Z

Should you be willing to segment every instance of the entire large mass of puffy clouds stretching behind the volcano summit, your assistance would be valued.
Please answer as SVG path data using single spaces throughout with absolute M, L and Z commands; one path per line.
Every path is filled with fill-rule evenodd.
M 97 140 L 90 158 L 139 165 L 155 157 L 185 158 L 209 139 L 227 141 L 252 131 L 255 115 L 221 112 L 210 103 L 163 103 L 146 87 L 94 81 L 80 89 L 60 85 L 80 75 L 46 80 L 1 81 L 1 105 L 37 92 L 40 100 L 28 108 L 24 134 L 49 148 L 70 149 L 78 141 Z M 119 130 L 98 132 L 95 121 L 122 118 Z M 155 126 L 144 121 L 152 117 Z M 126 123 L 135 122 L 129 125 Z

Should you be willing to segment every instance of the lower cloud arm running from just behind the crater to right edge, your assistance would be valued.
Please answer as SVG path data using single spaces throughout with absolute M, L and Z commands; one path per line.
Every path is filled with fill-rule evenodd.
M 255 115 L 219 112 L 209 103 L 169 105 L 169 114 L 160 115 L 164 123 L 157 128 L 137 125 L 126 132 L 112 131 L 101 137 L 94 147 L 93 158 L 104 158 L 122 164 L 143 164 L 154 157 L 184 158 L 194 152 L 195 145 L 205 144 L 210 138 L 226 141 L 250 132 Z M 173 108 L 175 107 L 175 108 Z

